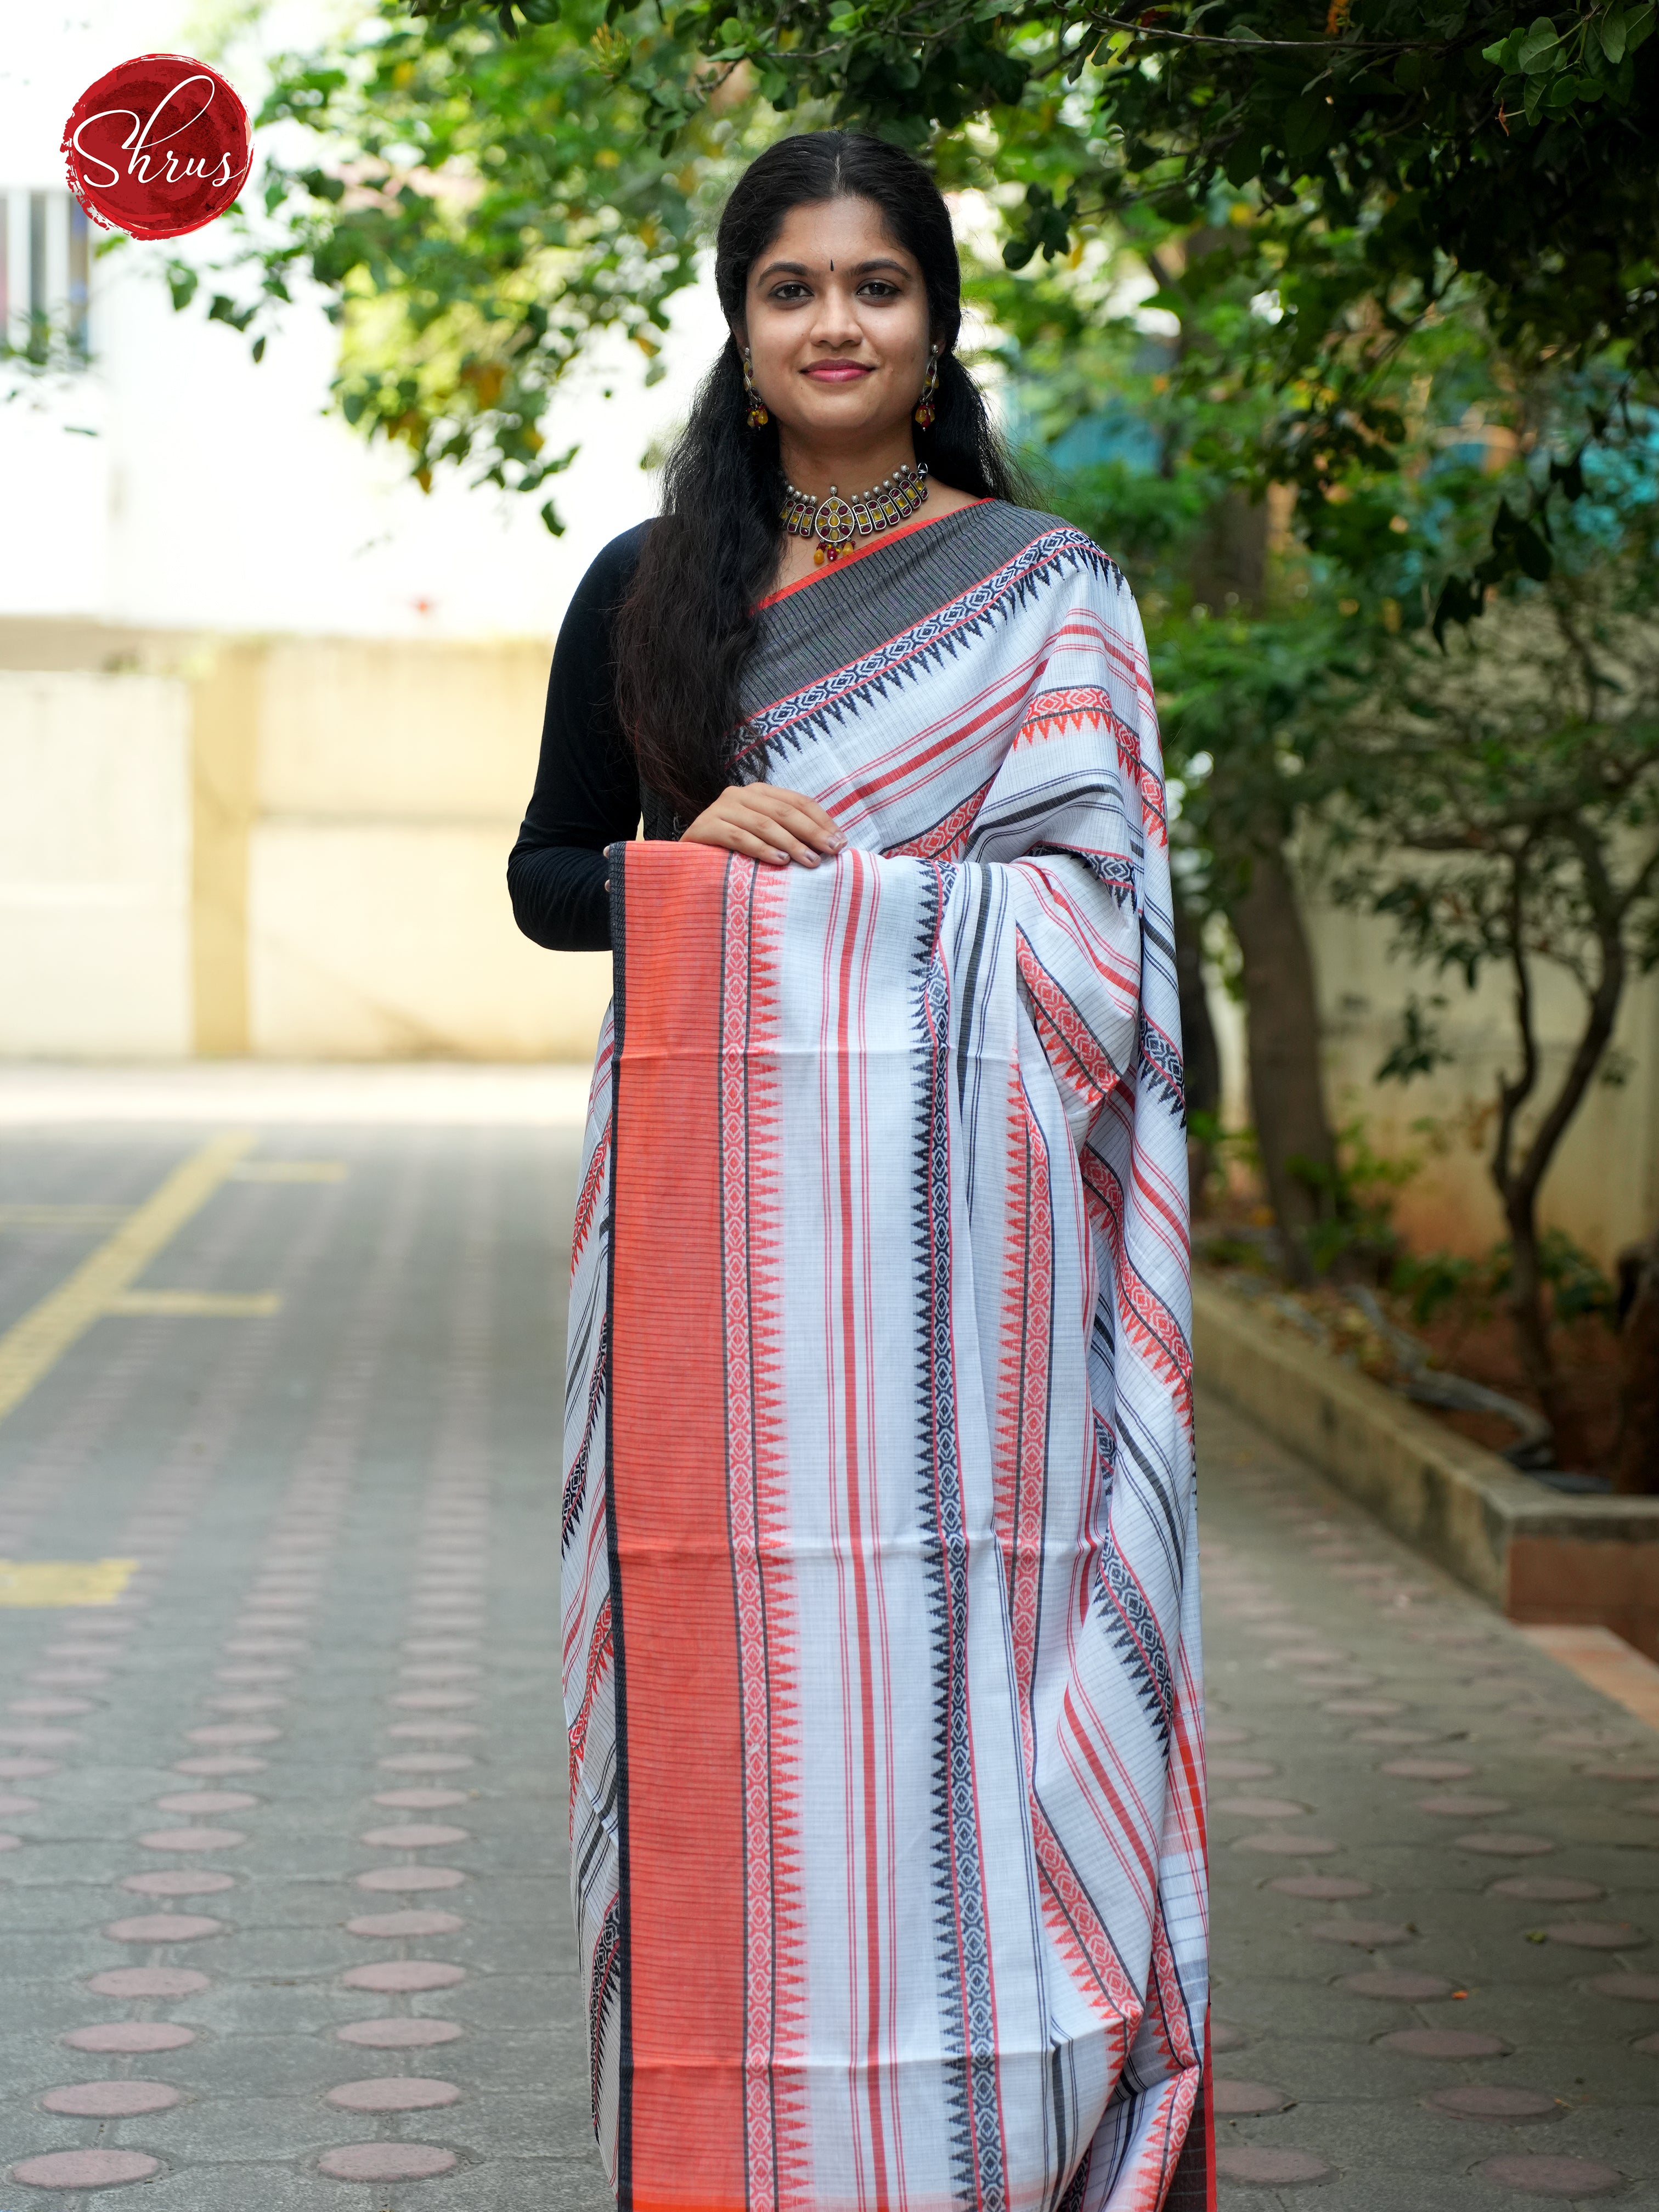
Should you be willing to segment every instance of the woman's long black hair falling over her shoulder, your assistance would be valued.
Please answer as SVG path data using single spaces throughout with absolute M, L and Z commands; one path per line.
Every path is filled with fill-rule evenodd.
M 854 131 L 779 139 L 737 181 L 714 243 L 714 288 L 741 323 L 750 268 L 792 208 L 869 199 L 889 234 L 920 263 L 931 338 L 940 349 L 931 429 L 916 453 L 945 484 L 1013 498 L 1018 480 L 980 387 L 956 358 L 962 272 L 951 212 L 909 153 Z M 783 544 L 779 431 L 748 427 L 743 361 L 728 338 L 668 456 L 661 515 L 617 619 L 617 706 L 639 774 L 681 816 L 732 781 L 741 721 L 739 679 L 754 641 L 754 604 L 772 584 Z

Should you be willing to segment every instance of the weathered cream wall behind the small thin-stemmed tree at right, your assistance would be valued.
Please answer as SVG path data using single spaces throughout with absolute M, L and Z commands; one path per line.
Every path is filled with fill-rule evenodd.
M 1338 1121 L 1365 1121 L 1371 1146 L 1389 1157 L 1416 1155 L 1420 1172 L 1405 1186 L 1394 1217 L 1420 1250 L 1480 1254 L 1504 1237 L 1486 1172 L 1500 1071 L 1513 1071 L 1513 1024 L 1502 978 L 1484 975 L 1467 991 L 1458 975 L 1438 984 L 1389 958 L 1389 931 L 1365 916 L 1310 911 L 1327 1037 L 1327 1095 Z M 1378 1084 L 1400 1009 L 1416 993 L 1447 1000 L 1436 1024 L 1451 1046 L 1449 1066 L 1429 1077 Z M 1566 975 L 1537 978 L 1542 1042 L 1540 1095 L 1548 1099 L 1566 1071 L 1582 1000 Z M 1650 1234 L 1659 1219 L 1659 975 L 1632 975 L 1626 987 L 1608 1066 L 1619 1084 L 1595 1084 L 1579 1106 L 1555 1166 L 1544 1179 L 1540 1212 L 1568 1230 L 1606 1267 L 1615 1254 Z M 1535 1124 L 1522 1124 L 1522 1133 Z M 1418 1124 L 1429 1121 L 1422 1130 Z

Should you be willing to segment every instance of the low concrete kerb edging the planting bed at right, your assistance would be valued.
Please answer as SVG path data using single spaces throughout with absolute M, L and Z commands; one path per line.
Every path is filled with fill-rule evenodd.
M 1513 1621 L 1601 1626 L 1659 1659 L 1659 1498 L 1571 1498 L 1192 1283 L 1194 1367 L 1407 1544 Z

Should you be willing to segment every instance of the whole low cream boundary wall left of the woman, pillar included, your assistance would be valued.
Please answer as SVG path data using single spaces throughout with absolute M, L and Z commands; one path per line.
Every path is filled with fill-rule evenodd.
M 0 1053 L 588 1060 L 507 900 L 549 650 L 0 622 Z

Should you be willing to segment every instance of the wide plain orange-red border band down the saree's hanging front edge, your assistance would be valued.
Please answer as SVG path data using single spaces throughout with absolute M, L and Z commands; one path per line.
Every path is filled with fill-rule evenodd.
M 644 898 L 644 922 L 628 929 L 626 905 L 622 925 L 613 918 L 619 984 L 635 998 L 633 1006 L 624 998 L 630 1068 L 613 1130 L 606 1460 L 635 1692 L 635 1710 L 619 1714 L 628 1820 L 619 2212 L 741 2212 L 750 2203 L 741 1621 L 730 1582 L 719 1597 L 706 1584 L 708 1566 L 730 1551 L 719 1113 L 726 858 L 630 843 L 622 874 Z M 688 1867 L 701 1876 L 695 1896 Z

